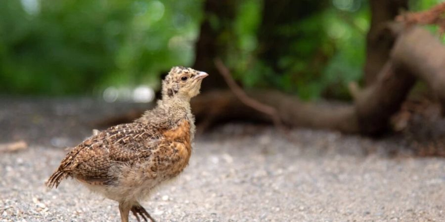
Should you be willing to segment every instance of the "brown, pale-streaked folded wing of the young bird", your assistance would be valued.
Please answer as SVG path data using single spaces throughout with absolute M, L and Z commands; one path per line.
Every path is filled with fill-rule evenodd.
M 149 158 L 162 134 L 139 123 L 113 126 L 85 140 L 62 160 L 59 170 L 89 183 L 112 182 L 113 166 Z

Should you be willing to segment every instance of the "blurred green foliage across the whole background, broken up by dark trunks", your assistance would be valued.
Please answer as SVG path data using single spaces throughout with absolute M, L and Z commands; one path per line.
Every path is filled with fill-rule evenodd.
M 411 0 L 423 10 L 443 0 Z M 367 0 L 329 0 L 274 27 L 298 35 L 276 61 L 264 60 L 263 0 L 239 0 L 225 61 L 245 87 L 274 87 L 304 99 L 349 98 L 360 81 L 370 15 Z M 108 86 L 157 87 L 172 66 L 191 66 L 204 0 L 2 0 L 0 92 L 91 94 Z M 218 18 L 213 18 L 218 24 Z

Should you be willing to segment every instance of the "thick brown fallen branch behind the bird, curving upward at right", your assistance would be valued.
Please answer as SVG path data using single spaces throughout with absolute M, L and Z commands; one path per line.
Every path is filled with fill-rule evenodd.
M 376 135 L 385 132 L 389 118 L 400 108 L 414 78 L 401 68 L 387 64 L 375 83 L 361 90 L 355 104 L 302 102 L 296 96 L 273 90 L 247 91 L 247 95 L 276 109 L 284 124 L 344 133 Z M 208 92 L 191 101 L 196 116 L 206 115 L 207 107 L 220 104 L 215 121 L 242 119 L 270 122 L 270 116 L 241 102 L 229 90 Z

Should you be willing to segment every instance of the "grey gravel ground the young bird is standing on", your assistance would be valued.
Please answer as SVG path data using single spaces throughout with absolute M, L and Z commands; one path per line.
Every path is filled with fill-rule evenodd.
M 116 202 L 72 180 L 53 190 L 44 182 L 63 147 L 90 134 L 87 123 L 128 107 L 0 98 L 0 141 L 30 144 L 0 153 L 0 222 L 119 221 Z M 445 220 L 444 159 L 400 154 L 394 139 L 305 129 L 290 136 L 247 124 L 198 135 L 188 168 L 142 205 L 159 222 Z

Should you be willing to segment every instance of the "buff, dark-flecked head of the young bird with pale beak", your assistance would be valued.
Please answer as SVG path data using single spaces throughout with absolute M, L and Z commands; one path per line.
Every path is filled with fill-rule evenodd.
M 162 98 L 190 100 L 199 94 L 201 81 L 208 75 L 191 68 L 173 67 L 162 81 Z

